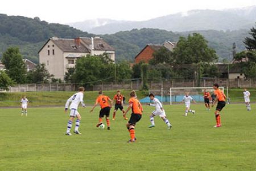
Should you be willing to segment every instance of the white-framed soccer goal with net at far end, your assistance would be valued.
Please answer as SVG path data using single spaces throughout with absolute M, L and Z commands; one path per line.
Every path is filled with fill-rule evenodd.
M 224 91 L 224 87 L 219 87 L 222 91 Z M 173 102 L 182 101 L 185 92 L 189 92 L 189 95 L 195 99 L 196 101 L 204 101 L 203 93 L 204 89 L 206 89 L 210 94 L 213 93 L 212 87 L 171 87 L 170 88 L 170 105 Z

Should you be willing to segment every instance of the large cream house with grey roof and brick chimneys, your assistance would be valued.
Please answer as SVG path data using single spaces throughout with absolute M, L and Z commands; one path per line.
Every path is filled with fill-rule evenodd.
M 75 67 L 76 60 L 86 55 L 107 54 L 115 61 L 115 49 L 101 37 L 77 37 L 60 39 L 52 37 L 39 50 L 39 63 L 55 78 L 64 80 L 65 72 Z

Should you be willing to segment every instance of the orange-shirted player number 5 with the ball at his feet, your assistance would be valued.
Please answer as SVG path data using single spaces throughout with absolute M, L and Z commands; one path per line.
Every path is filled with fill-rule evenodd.
M 109 101 L 110 101 L 110 104 L 109 104 Z M 96 99 L 96 102 L 95 102 L 92 110 L 90 110 L 90 112 L 93 112 L 93 109 L 97 106 L 97 104 L 100 104 L 100 106 L 101 106 L 99 122 L 97 124 L 97 127 L 99 127 L 102 124 L 102 118 L 104 118 L 104 116 L 105 116 L 108 130 L 110 130 L 109 114 L 110 114 L 110 109 L 112 107 L 112 100 L 108 96 L 104 96 L 102 91 L 99 91 L 98 98 Z

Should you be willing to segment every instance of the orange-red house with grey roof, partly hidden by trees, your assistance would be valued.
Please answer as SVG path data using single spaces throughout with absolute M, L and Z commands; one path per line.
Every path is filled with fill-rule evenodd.
M 157 50 L 162 47 L 167 48 L 168 50 L 172 51 L 176 47 L 176 42 L 165 41 L 163 44 L 147 44 L 141 52 L 139 52 L 135 57 L 135 63 L 144 62 L 148 63 L 151 59 L 154 58 L 153 54 Z

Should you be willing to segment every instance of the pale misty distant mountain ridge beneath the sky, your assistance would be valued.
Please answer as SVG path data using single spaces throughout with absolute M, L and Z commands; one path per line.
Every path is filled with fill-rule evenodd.
M 167 31 L 184 32 L 197 30 L 237 30 L 247 29 L 256 21 L 256 6 L 236 8 L 228 10 L 192 10 L 185 13 L 177 13 L 150 19 L 142 22 L 114 21 L 107 19 L 104 24 L 91 25 L 90 22 L 82 22 L 86 28 L 71 26 L 95 34 L 112 34 L 119 31 L 130 31 L 131 29 L 159 28 Z

